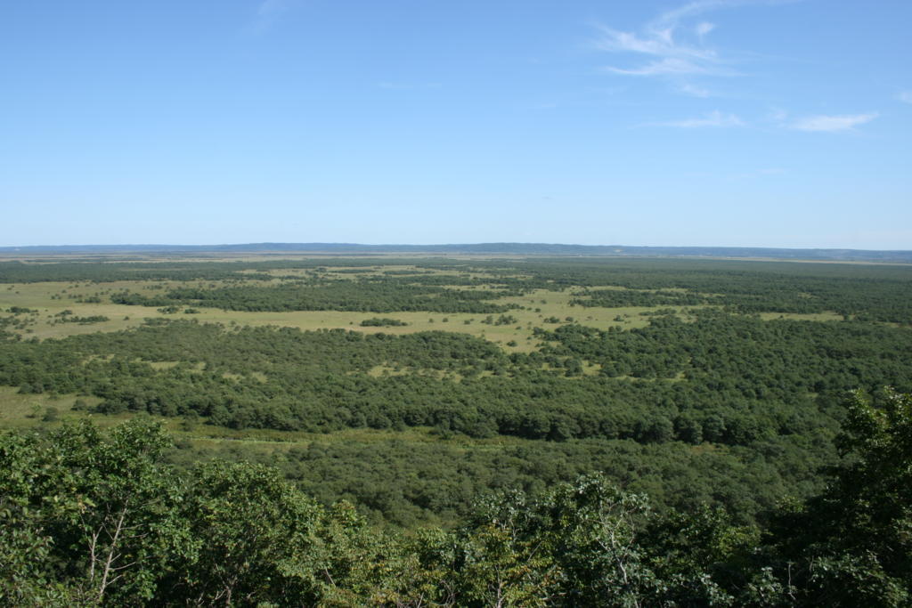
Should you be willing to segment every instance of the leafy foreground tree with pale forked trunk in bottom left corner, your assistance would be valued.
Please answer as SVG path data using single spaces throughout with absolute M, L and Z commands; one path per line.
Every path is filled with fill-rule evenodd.
M 0 447 L 0 515 L 12 547 L 26 551 L 38 581 L 61 587 L 61 601 L 139 603 L 185 544 L 177 517 L 181 487 L 161 454 L 171 441 L 159 425 L 133 421 L 103 435 L 83 423 L 47 438 L 7 435 Z M 10 551 L 4 570 L 16 570 Z M 6 592 L 18 593 L 16 572 Z

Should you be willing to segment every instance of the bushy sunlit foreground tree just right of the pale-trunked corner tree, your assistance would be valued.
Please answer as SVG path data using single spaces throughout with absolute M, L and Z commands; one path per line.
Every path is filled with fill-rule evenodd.
M 160 601 L 256 605 L 365 605 L 399 598 L 406 569 L 347 503 L 326 509 L 282 479 L 248 463 L 197 468 L 181 519 L 184 554 Z

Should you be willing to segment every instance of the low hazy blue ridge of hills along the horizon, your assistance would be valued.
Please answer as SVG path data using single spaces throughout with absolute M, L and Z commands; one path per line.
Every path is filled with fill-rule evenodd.
M 591 255 L 611 257 L 707 257 L 814 260 L 829 262 L 912 263 L 912 251 L 861 249 L 780 249 L 772 247 L 647 247 L 573 245 L 541 242 L 481 242 L 439 245 L 365 245 L 353 242 L 253 242 L 223 245 L 32 245 L 0 247 L 0 254 L 53 255 L 89 253 L 442 253 L 500 255 Z

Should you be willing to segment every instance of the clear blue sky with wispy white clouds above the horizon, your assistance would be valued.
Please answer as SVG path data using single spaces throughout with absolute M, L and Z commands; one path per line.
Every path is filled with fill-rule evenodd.
M 0 5 L 0 245 L 912 249 L 907 0 Z

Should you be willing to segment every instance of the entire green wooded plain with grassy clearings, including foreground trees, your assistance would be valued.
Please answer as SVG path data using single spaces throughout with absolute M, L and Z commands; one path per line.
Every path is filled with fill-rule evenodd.
M 0 262 L 4 605 L 912 603 L 912 267 Z

